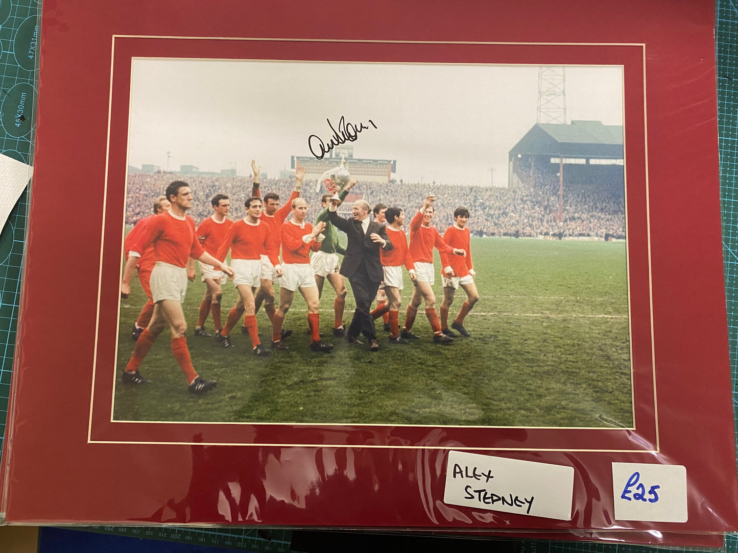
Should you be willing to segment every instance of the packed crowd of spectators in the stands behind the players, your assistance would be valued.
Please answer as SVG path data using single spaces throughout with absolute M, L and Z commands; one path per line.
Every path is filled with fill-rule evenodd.
M 190 184 L 195 199 L 188 213 L 197 223 L 212 215 L 210 198 L 215 194 L 230 197 L 231 219 L 244 216 L 244 201 L 251 195 L 252 178 L 249 176 L 131 173 L 128 175 L 126 224 L 133 225 L 151 215 L 154 198 L 176 180 Z M 437 197 L 433 224 L 441 232 L 453 223 L 454 209 L 466 206 L 472 214 L 469 229 L 477 236 L 625 237 L 623 187 L 565 185 L 561 220 L 558 180 L 551 177 L 535 180 L 534 185 L 522 184 L 515 188 L 359 181 L 352 192 L 363 195 L 371 205 L 382 202 L 401 207 L 409 215 L 406 224 L 425 196 L 432 193 Z M 306 181 L 301 192 L 308 202 L 308 220 L 314 220 L 322 209 L 320 197 L 325 189 L 321 187 L 316 192 L 316 184 L 315 181 Z M 294 178 L 263 179 L 261 195 L 277 192 L 281 201 L 286 201 L 293 188 Z

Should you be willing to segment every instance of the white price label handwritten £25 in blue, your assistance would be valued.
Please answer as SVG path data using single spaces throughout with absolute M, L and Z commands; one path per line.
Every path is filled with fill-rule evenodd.
M 687 521 L 687 470 L 681 465 L 613 463 L 615 520 Z

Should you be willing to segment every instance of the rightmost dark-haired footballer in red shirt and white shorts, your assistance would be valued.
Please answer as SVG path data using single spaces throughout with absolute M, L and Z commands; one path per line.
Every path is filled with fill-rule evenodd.
M 458 207 L 454 211 L 454 224 L 444 232 L 444 242 L 452 248 L 460 248 L 466 251 L 466 257 L 460 258 L 441 254 L 441 265 L 443 265 L 441 279 L 444 281 L 444 301 L 441 303 L 441 331 L 452 338 L 455 333 L 449 330 L 449 307 L 454 301 L 456 289 L 461 286 L 463 291 L 466 292 L 466 301 L 461 305 L 461 311 L 451 323 L 451 327 L 458 330 L 458 333 L 466 338 L 470 334 L 463 327 L 463 319 L 479 300 L 477 285 L 474 282 L 476 273 L 474 265 L 472 265 L 472 250 L 470 249 L 471 233 L 466 223 L 469 223 L 469 209 Z

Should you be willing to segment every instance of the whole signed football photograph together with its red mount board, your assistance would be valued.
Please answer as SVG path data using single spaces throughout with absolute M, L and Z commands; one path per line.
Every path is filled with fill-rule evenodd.
M 736 528 L 714 4 L 87 4 L 41 25 L 8 522 Z

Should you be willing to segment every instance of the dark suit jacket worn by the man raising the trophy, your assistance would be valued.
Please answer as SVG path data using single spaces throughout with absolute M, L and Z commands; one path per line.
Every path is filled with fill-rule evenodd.
M 340 273 L 350 279 L 359 270 L 363 261 L 369 279 L 373 282 L 382 282 L 384 271 L 382 271 L 382 262 L 379 260 L 379 249 L 382 248 L 382 245 L 372 242 L 370 234 L 373 232 L 379 234 L 385 241 L 384 250 L 391 250 L 393 248 L 392 242 L 390 237 L 387 236 L 384 225 L 380 225 L 376 221 L 370 221 L 367 233 L 364 234 L 361 221 L 344 219 L 339 217 L 337 212 L 331 211 L 328 212 L 328 220 L 337 229 L 345 232 L 348 237 L 348 246 L 346 246 Z

